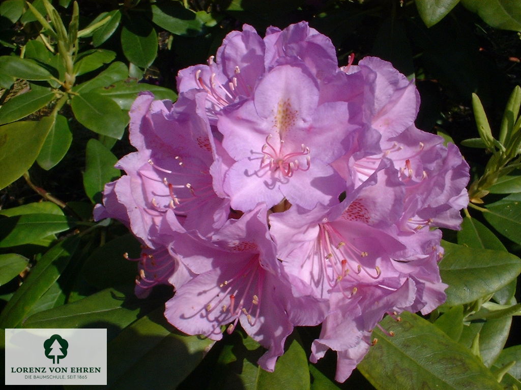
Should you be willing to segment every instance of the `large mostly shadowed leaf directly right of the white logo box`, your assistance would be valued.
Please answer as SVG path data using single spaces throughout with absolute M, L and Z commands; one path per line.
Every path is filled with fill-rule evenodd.
M 175 389 L 212 347 L 212 340 L 173 328 L 163 311 L 135 321 L 108 344 L 108 388 Z

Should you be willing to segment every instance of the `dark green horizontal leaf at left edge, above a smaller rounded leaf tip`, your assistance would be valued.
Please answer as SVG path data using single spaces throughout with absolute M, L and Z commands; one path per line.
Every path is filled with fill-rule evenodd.
M 70 227 L 64 215 L 23 214 L 0 218 L 0 248 L 28 244 Z

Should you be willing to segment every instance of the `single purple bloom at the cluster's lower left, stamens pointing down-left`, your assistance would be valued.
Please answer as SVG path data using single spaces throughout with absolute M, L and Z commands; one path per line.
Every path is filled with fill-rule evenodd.
M 176 328 L 222 337 L 238 322 L 253 339 L 268 348 L 259 365 L 273 371 L 293 326 L 316 325 L 327 304 L 308 296 L 306 286 L 290 278 L 269 238 L 263 204 L 238 220 L 229 220 L 212 241 L 187 237 L 176 246 L 184 264 L 197 276 L 185 283 L 166 304 L 165 316 Z M 301 289 L 295 297 L 292 289 Z

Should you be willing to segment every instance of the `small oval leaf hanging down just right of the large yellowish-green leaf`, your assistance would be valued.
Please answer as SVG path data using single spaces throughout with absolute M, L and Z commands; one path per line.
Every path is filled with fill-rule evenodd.
M 43 142 L 36 162 L 44 170 L 50 170 L 64 158 L 71 143 L 72 133 L 67 118 L 63 115 L 56 115 L 54 124 Z

